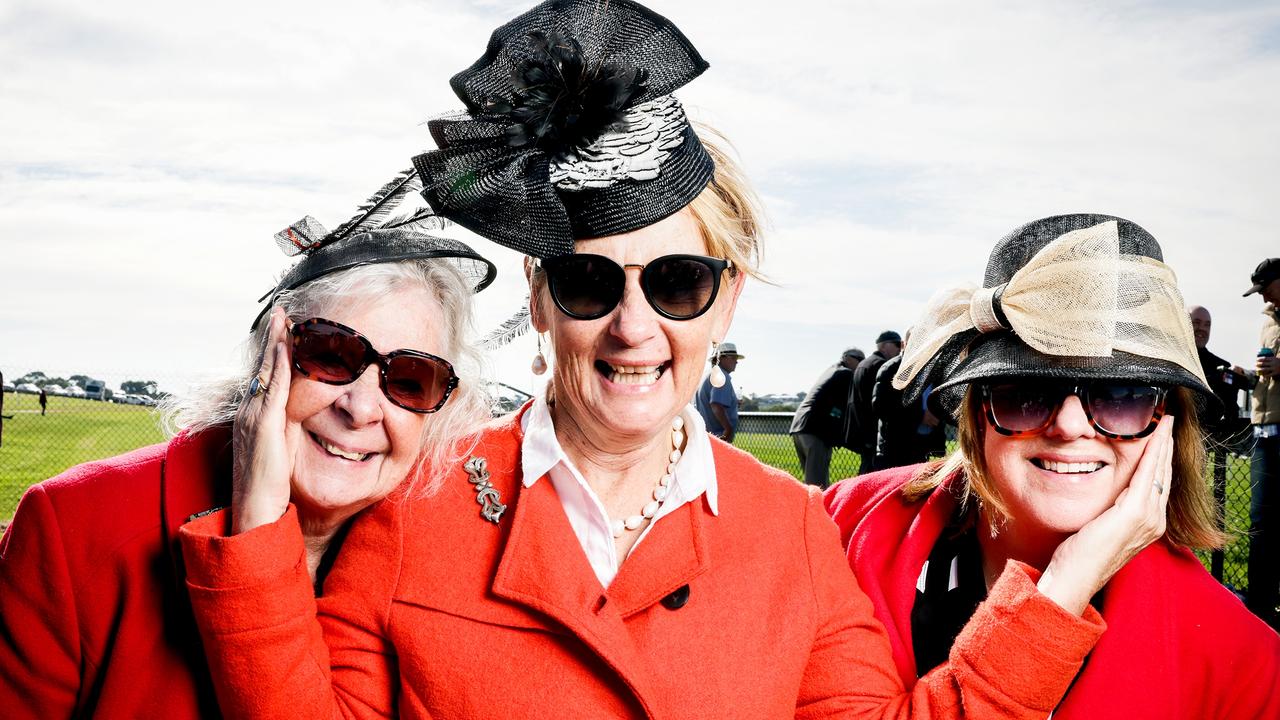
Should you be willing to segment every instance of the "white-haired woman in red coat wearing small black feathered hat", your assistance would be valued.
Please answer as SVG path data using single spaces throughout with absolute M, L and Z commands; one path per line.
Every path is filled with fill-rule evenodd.
M 282 233 L 310 233 L 307 242 L 321 247 L 280 282 L 270 322 L 255 323 L 243 373 L 172 409 L 182 433 L 73 468 L 23 497 L 0 542 L 0 717 L 220 716 L 177 530 L 230 502 L 230 421 L 246 395 L 282 406 L 291 446 L 285 492 L 302 519 L 307 592 L 356 511 L 410 474 L 420 451 L 448 457 L 457 428 L 488 416 L 463 331 L 471 295 L 488 284 L 493 266 L 412 224 L 361 217 L 340 232 L 303 224 Z M 279 337 L 285 315 L 298 322 L 298 374 L 288 389 L 253 375 L 268 328 Z M 302 322 L 310 318 L 325 320 Z M 200 324 L 183 328 L 198 332 Z M 369 343 L 397 356 L 356 373 L 372 360 L 364 352 Z M 334 355 L 344 348 L 358 351 L 347 375 L 346 357 Z M 463 374 L 456 389 L 440 357 Z M 430 380 L 422 392 L 411 389 L 417 379 Z M 445 397 L 440 413 L 426 414 Z

